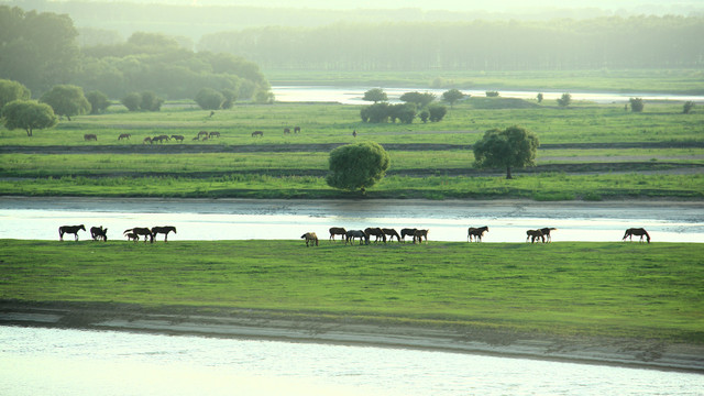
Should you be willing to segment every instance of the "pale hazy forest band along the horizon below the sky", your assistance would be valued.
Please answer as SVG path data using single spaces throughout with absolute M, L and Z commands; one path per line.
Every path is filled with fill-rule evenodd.
M 562 70 L 704 66 L 704 18 L 270 26 L 206 35 L 198 50 L 270 69 Z

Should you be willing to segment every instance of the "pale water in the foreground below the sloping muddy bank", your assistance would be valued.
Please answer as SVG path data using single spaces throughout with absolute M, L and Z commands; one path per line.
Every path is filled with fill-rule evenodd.
M 0 327 L 0 395 L 702 395 L 704 375 L 447 352 Z

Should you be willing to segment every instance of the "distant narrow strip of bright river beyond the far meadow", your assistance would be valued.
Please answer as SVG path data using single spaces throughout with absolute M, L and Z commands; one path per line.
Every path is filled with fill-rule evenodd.
M 274 86 L 272 91 L 276 101 L 280 102 L 339 102 L 342 105 L 369 105 L 370 102 L 362 100 L 364 92 L 377 87 L 336 87 L 336 86 Z M 442 92 L 447 89 L 421 89 L 421 88 L 393 88 L 383 87 L 384 92 L 388 96 L 391 102 L 399 102 L 399 97 L 406 92 L 420 91 L 435 94 L 436 97 L 442 98 Z M 462 90 L 465 95 L 473 97 L 486 96 L 485 90 L 468 89 Z M 565 91 L 542 91 L 543 100 L 556 100 Z M 521 90 L 501 90 L 503 98 L 536 99 L 538 91 Z M 641 98 L 646 101 L 652 100 L 673 100 L 673 101 L 694 101 L 704 102 L 704 96 L 686 96 L 671 94 L 647 94 L 647 92 L 572 92 L 573 101 L 587 100 L 596 103 L 625 103 L 630 98 Z

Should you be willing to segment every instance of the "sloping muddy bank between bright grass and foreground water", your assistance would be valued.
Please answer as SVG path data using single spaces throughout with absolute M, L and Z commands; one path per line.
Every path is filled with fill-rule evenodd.
M 704 374 L 701 344 L 409 326 L 299 312 L 2 300 L 0 326 L 416 349 Z

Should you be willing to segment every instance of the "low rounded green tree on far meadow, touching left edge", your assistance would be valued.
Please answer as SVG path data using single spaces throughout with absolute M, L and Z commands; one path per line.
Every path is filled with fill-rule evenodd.
M 2 108 L 2 121 L 9 130 L 23 129 L 28 136 L 32 136 L 35 129 L 56 125 L 57 118 L 54 110 L 46 103 L 34 100 L 14 100 Z

